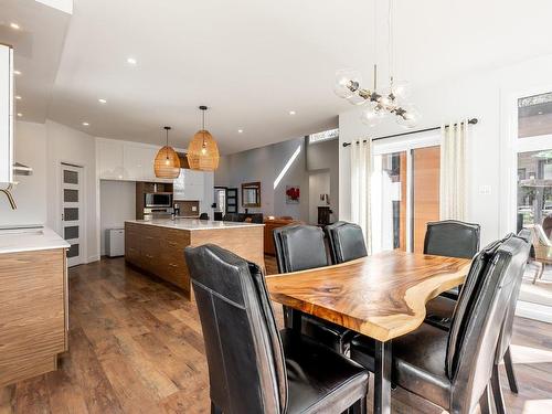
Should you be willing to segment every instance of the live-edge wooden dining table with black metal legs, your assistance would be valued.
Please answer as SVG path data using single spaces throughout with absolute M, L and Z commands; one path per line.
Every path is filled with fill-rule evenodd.
M 309 314 L 370 337 L 375 342 L 373 413 L 391 413 L 392 340 L 414 331 L 427 301 L 461 285 L 467 258 L 403 251 L 266 276 L 272 300 L 290 310 L 293 329 Z

